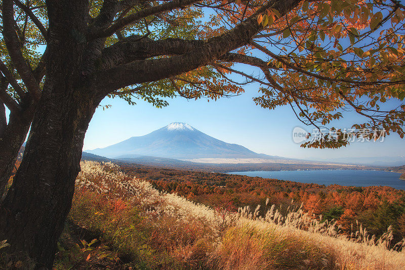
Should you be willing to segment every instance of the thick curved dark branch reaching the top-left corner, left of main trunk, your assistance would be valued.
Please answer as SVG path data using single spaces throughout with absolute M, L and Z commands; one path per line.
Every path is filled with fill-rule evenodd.
M 14 66 L 16 67 L 25 87 L 32 94 L 35 100 L 39 100 L 41 92 L 31 68 L 25 61 L 18 45 L 16 32 L 14 31 L 14 7 L 13 0 L 3 1 L 3 36 L 7 49 Z M 6 102 L 5 102 L 6 103 Z

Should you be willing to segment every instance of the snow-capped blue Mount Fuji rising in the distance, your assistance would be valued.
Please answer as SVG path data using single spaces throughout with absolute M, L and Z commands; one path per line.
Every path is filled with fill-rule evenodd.
M 179 160 L 192 159 L 273 159 L 248 148 L 226 143 L 211 137 L 188 124 L 172 123 L 147 135 L 132 137 L 125 141 L 87 150 L 107 158 L 138 158 L 153 156 Z

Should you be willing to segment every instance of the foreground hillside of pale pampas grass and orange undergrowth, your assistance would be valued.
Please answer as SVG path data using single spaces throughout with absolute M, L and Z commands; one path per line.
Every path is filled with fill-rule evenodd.
M 82 162 L 55 269 L 401 269 L 404 241 L 346 235 L 302 207 L 215 208 L 162 193 L 111 163 Z M 287 214 L 282 214 L 287 213 Z M 5 265 L 29 261 L 3 256 Z M 5 267 L 6 268 L 6 267 Z

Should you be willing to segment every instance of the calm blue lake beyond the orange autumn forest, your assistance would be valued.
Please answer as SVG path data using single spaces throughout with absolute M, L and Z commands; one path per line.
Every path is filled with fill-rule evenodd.
M 339 184 L 351 186 L 387 185 L 405 190 L 405 180 L 400 180 L 400 173 L 362 170 L 314 170 L 314 171 L 256 171 L 229 172 L 247 176 L 259 176 L 301 183 Z

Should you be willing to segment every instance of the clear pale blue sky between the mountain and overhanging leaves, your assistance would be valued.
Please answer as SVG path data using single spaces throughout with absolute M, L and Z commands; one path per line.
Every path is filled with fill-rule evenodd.
M 304 149 L 293 142 L 294 127 L 311 131 L 301 124 L 290 107 L 275 110 L 255 105 L 252 97 L 258 95 L 258 86 L 246 87 L 245 93 L 231 98 L 208 102 L 206 99 L 169 99 L 166 108 L 154 108 L 145 101 L 131 106 L 124 100 L 104 99 L 86 134 L 84 150 L 105 147 L 132 136 L 142 136 L 172 122 L 185 122 L 201 132 L 228 143 L 237 143 L 249 149 L 289 158 L 330 159 L 342 157 L 383 157 L 405 153 L 405 141 L 393 134 L 384 142 L 352 143 L 340 149 Z M 354 121 L 361 121 L 356 113 L 348 113 L 335 127 L 349 129 Z

